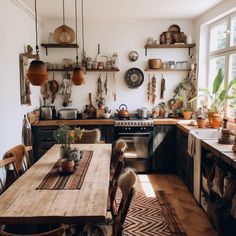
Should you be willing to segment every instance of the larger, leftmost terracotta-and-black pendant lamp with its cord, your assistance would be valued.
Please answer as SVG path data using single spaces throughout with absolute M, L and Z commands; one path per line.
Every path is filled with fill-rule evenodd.
M 37 0 L 35 0 L 35 34 L 36 34 L 36 59 L 30 63 L 27 78 L 32 85 L 41 86 L 48 79 L 47 67 L 43 61 L 39 59 L 38 46 L 38 23 L 37 23 Z

